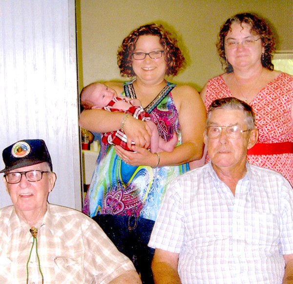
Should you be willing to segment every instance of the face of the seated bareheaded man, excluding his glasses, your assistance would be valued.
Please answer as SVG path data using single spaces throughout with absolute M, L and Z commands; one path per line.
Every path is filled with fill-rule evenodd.
M 242 110 L 215 109 L 210 113 L 208 126 L 238 126 L 248 130 L 246 117 Z M 205 144 L 214 169 L 244 170 L 247 150 L 257 141 L 257 131 L 243 132 L 239 139 L 230 139 L 222 130 L 216 139 L 209 139 L 205 132 Z M 216 170 L 217 171 L 217 170 Z

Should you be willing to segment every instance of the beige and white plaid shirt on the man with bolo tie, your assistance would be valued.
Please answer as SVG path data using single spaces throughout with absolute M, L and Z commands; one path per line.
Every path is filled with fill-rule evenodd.
M 79 211 L 48 204 L 36 227 L 45 284 L 108 283 L 134 269 L 98 224 Z M 0 283 L 24 284 L 33 243 L 30 226 L 8 206 L 0 209 L 0 228 Z M 28 269 L 29 283 L 42 283 L 35 246 Z

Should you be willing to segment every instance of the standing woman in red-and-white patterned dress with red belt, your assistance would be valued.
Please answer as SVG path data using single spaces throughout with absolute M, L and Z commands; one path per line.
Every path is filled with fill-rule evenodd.
M 248 151 L 248 161 L 281 173 L 293 184 L 293 76 L 273 70 L 274 48 L 265 20 L 250 13 L 228 19 L 217 43 L 226 73 L 210 79 L 201 96 L 207 109 L 225 97 L 249 103 L 259 138 Z

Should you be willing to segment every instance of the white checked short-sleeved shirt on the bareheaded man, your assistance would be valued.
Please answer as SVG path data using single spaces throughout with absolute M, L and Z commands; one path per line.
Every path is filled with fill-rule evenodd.
M 235 196 L 210 163 L 167 188 L 148 244 L 179 253 L 182 283 L 282 283 L 293 253 L 293 190 L 247 163 Z

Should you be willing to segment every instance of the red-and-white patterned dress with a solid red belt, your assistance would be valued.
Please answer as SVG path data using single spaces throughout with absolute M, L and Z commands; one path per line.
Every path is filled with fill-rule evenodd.
M 232 97 L 223 76 L 207 83 L 205 106 Z M 248 152 L 248 162 L 281 173 L 293 185 L 293 76 L 280 73 L 253 98 L 250 105 L 259 131 L 257 144 Z

